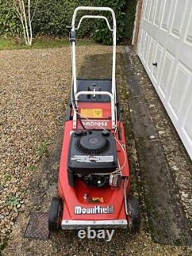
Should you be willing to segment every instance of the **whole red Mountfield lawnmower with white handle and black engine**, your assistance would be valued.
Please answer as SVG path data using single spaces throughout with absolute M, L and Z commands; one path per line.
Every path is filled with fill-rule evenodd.
M 78 11 L 111 12 L 113 25 L 103 15 L 84 15 L 75 27 Z M 113 36 L 112 79 L 81 79 L 76 74 L 76 32 L 84 18 L 101 18 Z M 71 44 L 71 97 L 58 174 L 58 197 L 51 201 L 50 232 L 69 229 L 127 228 L 137 232 L 140 211 L 129 196 L 122 111 L 115 81 L 116 18 L 108 7 L 75 8 L 68 26 Z

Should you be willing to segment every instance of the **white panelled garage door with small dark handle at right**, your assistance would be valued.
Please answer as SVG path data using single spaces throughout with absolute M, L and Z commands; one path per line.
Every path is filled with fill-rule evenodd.
M 192 158 L 192 0 L 144 0 L 137 52 Z

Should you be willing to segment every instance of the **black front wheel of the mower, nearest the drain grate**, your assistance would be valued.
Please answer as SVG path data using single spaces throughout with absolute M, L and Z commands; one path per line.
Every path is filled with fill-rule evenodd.
M 60 228 L 62 211 L 62 199 L 58 197 L 52 198 L 48 215 L 48 230 L 50 232 L 58 231 Z

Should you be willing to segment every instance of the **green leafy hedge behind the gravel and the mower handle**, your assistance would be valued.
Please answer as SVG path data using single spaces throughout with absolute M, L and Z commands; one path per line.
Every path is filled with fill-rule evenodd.
M 0 35 L 21 35 L 22 28 L 14 12 L 0 0 Z M 71 24 L 74 8 L 79 5 L 109 6 L 114 9 L 118 42 L 131 39 L 137 0 L 39 0 L 37 12 L 32 22 L 35 35 L 68 36 L 66 25 Z M 82 15 L 84 13 L 79 13 Z M 78 16 L 79 16 L 78 15 Z M 105 13 L 106 15 L 106 13 Z M 107 14 L 111 21 L 110 14 Z M 104 21 L 84 20 L 78 36 L 93 36 L 97 42 L 111 43 L 111 33 Z

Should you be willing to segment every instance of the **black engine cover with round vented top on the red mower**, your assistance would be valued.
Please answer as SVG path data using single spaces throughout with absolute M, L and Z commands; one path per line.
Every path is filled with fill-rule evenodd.
M 68 172 L 108 173 L 118 166 L 114 136 L 109 131 L 75 131 L 71 134 Z

